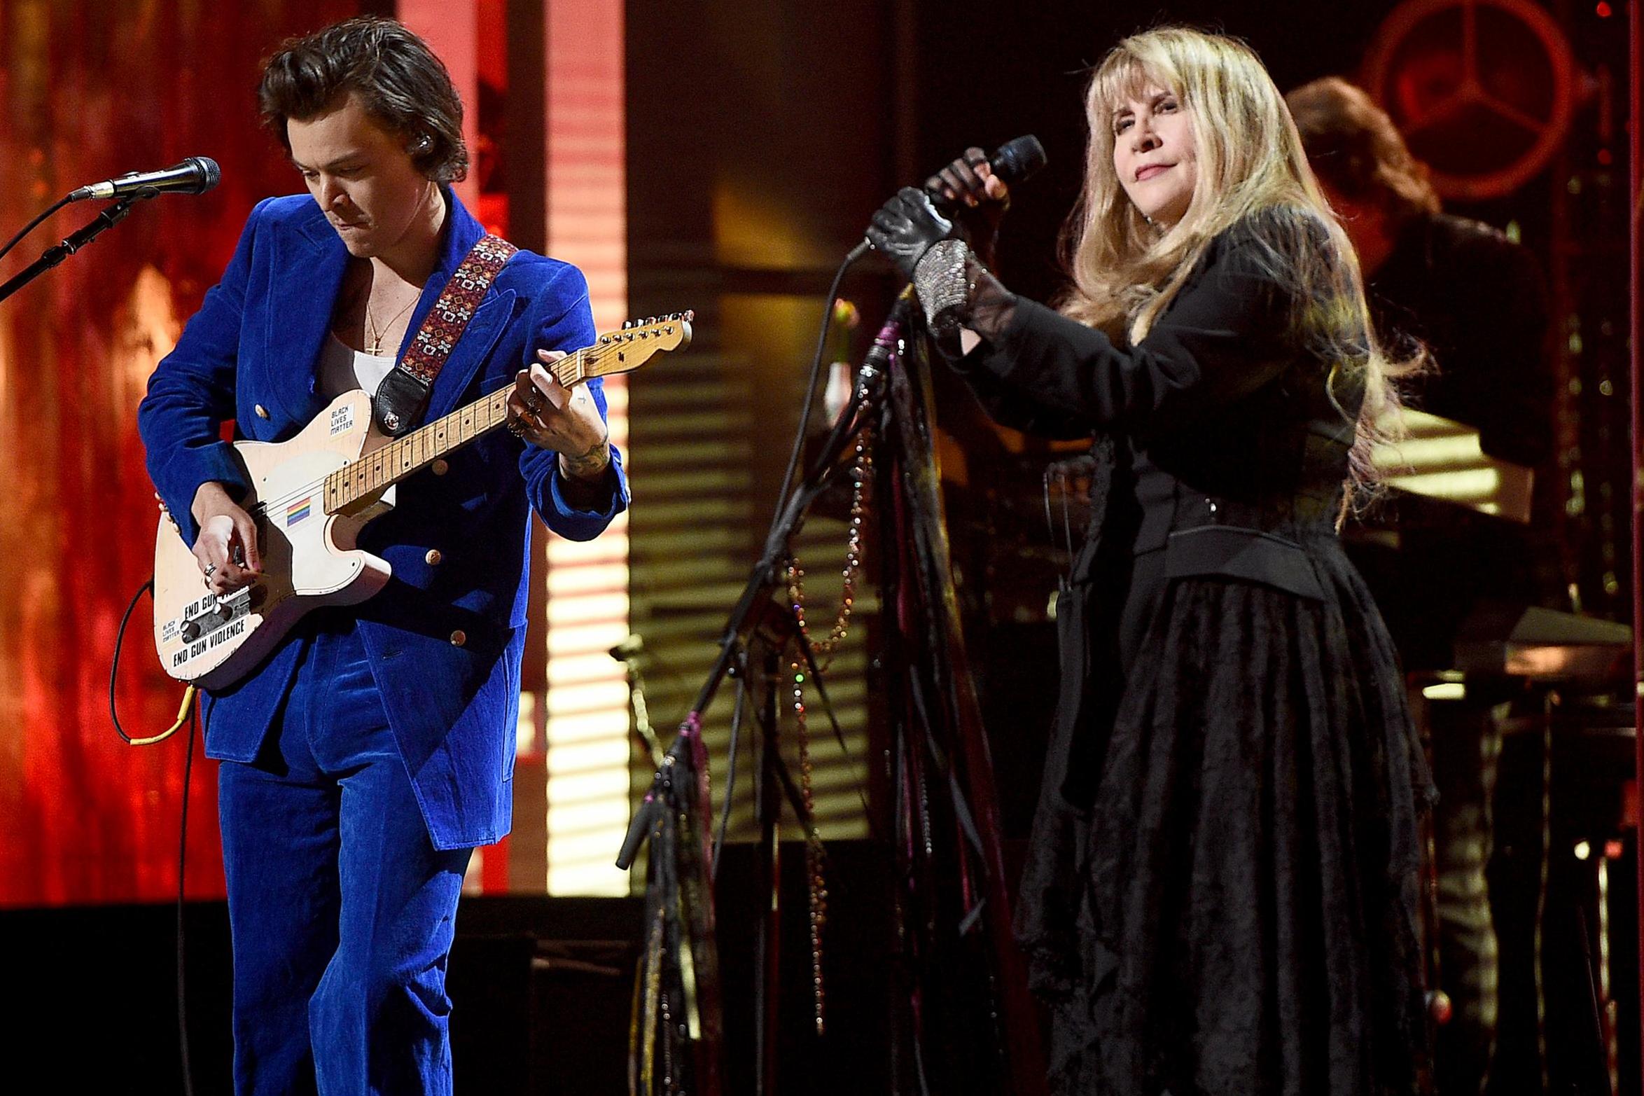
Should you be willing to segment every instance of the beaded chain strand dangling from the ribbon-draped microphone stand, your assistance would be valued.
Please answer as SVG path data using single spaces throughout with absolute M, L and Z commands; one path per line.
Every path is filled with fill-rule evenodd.
M 857 435 L 857 460 L 850 472 L 850 532 L 845 541 L 845 590 L 840 595 L 838 615 L 829 629 L 827 639 L 810 639 L 810 628 L 806 623 L 806 572 L 799 565 L 799 557 L 787 559 L 787 596 L 794 606 L 794 619 L 801 634 L 810 639 L 810 651 L 815 656 L 817 670 L 825 670 L 845 636 L 850 634 L 850 615 L 857 603 L 857 575 L 861 572 L 861 524 L 866 514 L 866 483 L 873 478 L 873 432 L 865 427 Z M 799 790 L 806 804 L 809 827 L 806 830 L 806 882 L 810 891 L 810 986 L 815 1001 L 817 1035 L 825 1027 L 827 992 L 822 984 L 822 927 L 827 923 L 827 876 L 824 874 L 822 838 L 815 828 L 815 799 L 810 787 L 810 733 L 806 726 L 806 661 L 794 644 L 792 657 L 787 662 L 792 674 L 794 726 L 799 731 Z

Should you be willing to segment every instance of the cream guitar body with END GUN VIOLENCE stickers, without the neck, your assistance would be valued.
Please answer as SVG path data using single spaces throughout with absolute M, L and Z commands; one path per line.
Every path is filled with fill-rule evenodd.
M 252 493 L 263 575 L 217 598 L 169 516 L 155 534 L 155 647 L 166 672 L 206 688 L 256 665 L 322 605 L 355 605 L 388 582 L 388 562 L 355 547 L 360 529 L 393 506 L 393 486 L 347 513 L 327 514 L 326 477 L 381 444 L 372 398 L 337 396 L 286 442 L 237 442 Z

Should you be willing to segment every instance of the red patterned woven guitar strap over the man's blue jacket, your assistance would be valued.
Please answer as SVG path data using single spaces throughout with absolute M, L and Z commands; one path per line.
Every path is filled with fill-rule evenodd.
M 388 437 L 399 437 L 418 424 L 434 389 L 434 378 L 446 368 L 446 358 L 457 348 L 457 340 L 485 299 L 485 291 L 518 251 L 515 245 L 490 233 L 480 237 L 469 250 L 457 273 L 441 291 L 439 301 L 423 317 L 423 325 L 418 327 L 406 355 L 376 388 L 372 416 L 378 431 Z

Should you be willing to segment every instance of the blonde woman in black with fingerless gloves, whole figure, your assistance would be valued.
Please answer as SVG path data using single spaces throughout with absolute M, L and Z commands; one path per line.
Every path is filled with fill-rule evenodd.
M 1098 458 L 1018 909 L 1052 1089 L 1411 1093 L 1429 782 L 1337 537 L 1391 403 L 1356 261 L 1241 43 L 1129 38 L 1087 113 L 1057 309 L 977 253 L 975 150 L 927 184 L 957 228 L 906 189 L 870 232 L 998 421 Z

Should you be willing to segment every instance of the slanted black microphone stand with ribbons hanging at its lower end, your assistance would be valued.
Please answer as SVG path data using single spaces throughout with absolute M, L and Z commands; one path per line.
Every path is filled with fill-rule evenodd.
M 832 705 L 827 703 L 827 690 L 817 670 L 810 642 L 799 629 L 799 621 L 791 605 L 781 595 L 784 575 L 783 564 L 792 554 L 791 546 L 804 524 L 810 503 L 830 483 L 835 468 L 842 467 L 843 455 L 850 450 L 857 434 L 870 422 L 871 409 L 878 404 L 884 391 L 884 376 L 898 343 L 898 334 L 904 324 L 909 297 L 904 297 L 891 311 L 884 329 L 875 340 L 875 347 L 863 360 L 857 386 L 850 403 L 834 422 L 820 454 L 810 463 L 804 480 L 789 495 L 781 513 L 771 524 L 764 550 L 753 565 L 748 585 L 737 600 L 725 629 L 720 634 L 720 656 L 709 677 L 697 693 L 690 715 L 686 716 L 679 735 L 663 756 L 663 764 L 656 771 L 651 789 L 646 792 L 640 810 L 635 812 L 616 856 L 618 868 L 630 868 L 640 853 L 640 846 L 649 838 L 651 873 L 648 886 L 648 935 L 651 945 L 641 961 L 643 979 L 641 996 L 644 1007 L 636 997 L 633 1032 L 638 1038 L 654 1040 L 656 1027 L 651 1022 L 654 1004 L 661 992 L 661 950 L 664 937 L 669 933 L 669 917 L 684 917 L 692 922 L 684 927 L 689 938 L 676 938 L 674 950 L 681 956 L 681 994 L 687 997 L 684 1011 L 687 1029 L 697 1040 L 697 1091 L 705 1096 L 720 1093 L 720 1015 L 717 984 L 717 950 L 713 942 L 713 877 L 712 850 L 707 822 L 710 804 L 707 794 L 707 749 L 702 743 L 702 715 L 718 692 L 725 677 L 746 679 L 751 670 L 751 649 L 755 641 L 763 644 L 760 659 L 761 674 L 768 679 L 766 703 L 760 705 L 763 723 L 760 749 L 760 776 L 755 792 L 755 813 L 760 827 L 758 879 L 755 894 L 760 896 L 764 914 L 756 922 L 755 943 L 755 1091 L 761 1096 L 776 1093 L 776 1004 L 778 1004 L 778 845 L 776 825 L 781 815 L 781 799 L 792 807 L 807 838 L 815 835 L 815 823 L 804 805 L 804 797 L 796 785 L 787 764 L 778 753 L 778 705 L 776 674 L 779 654 L 787 642 L 799 646 L 801 657 L 809 667 L 809 680 L 817 688 L 829 718 L 834 718 Z M 802 426 L 801 426 L 802 429 Z M 835 733 L 838 726 L 835 723 Z M 679 831 L 684 825 L 686 833 Z M 686 864 L 684 861 L 694 861 Z M 686 876 L 694 874 L 692 879 Z M 677 887 L 677 899 L 666 899 L 654 894 L 659 889 Z M 653 915 L 654 907 L 654 915 Z M 689 971 L 689 973 L 687 973 Z M 643 1012 L 643 1014 L 641 1014 Z M 654 1042 L 646 1047 L 635 1047 L 636 1061 L 631 1073 L 640 1078 L 636 1091 L 649 1096 L 653 1091 L 651 1057 Z

